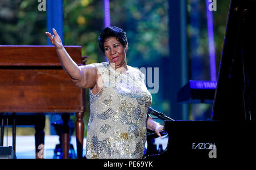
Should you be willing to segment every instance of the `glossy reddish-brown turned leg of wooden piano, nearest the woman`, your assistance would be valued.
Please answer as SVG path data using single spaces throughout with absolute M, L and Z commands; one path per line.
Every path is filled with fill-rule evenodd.
M 84 113 L 76 113 L 76 147 L 77 147 L 77 158 L 82 158 L 82 150 L 84 143 Z

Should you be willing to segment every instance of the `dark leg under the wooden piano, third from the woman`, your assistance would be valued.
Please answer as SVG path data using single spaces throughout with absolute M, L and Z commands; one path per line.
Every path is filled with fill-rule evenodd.
M 44 158 L 44 126 L 46 125 L 46 116 L 40 115 L 35 118 L 35 147 L 36 159 Z

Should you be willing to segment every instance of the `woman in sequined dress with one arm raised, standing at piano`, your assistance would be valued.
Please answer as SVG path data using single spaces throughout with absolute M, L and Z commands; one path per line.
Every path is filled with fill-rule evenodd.
M 163 126 L 147 115 L 152 97 L 144 74 L 126 64 L 126 33 L 118 27 L 106 27 L 98 45 L 109 62 L 86 66 L 77 66 L 54 28 L 53 33 L 46 35 L 63 69 L 77 87 L 90 88 L 86 158 L 142 158 L 146 128 L 161 137 Z

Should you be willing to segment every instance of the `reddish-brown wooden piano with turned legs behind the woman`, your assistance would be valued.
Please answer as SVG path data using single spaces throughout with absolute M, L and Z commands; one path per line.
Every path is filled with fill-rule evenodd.
M 85 64 L 82 62 L 81 46 L 65 46 L 65 49 L 77 65 Z M 42 115 L 61 113 L 65 124 L 63 158 L 68 158 L 69 133 L 66 125 L 69 113 L 76 113 L 77 158 L 82 158 L 85 90 L 72 83 L 61 66 L 54 46 L 0 46 L 0 101 L 0 116 L 13 114 L 14 150 L 15 126 L 20 123 L 15 117 L 30 120 L 35 116 L 32 121 L 44 125 Z M 37 145 L 40 145 L 40 140 L 44 143 L 42 133 L 36 134 L 36 140 L 39 138 Z

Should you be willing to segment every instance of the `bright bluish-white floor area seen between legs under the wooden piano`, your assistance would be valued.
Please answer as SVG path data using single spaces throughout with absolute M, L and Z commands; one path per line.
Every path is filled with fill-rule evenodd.
M 7 141 L 6 141 L 7 140 Z M 8 142 L 8 145 L 6 145 Z M 58 135 L 46 135 L 44 138 L 44 158 L 52 159 L 54 156 L 54 150 L 57 144 L 59 144 Z M 71 144 L 76 152 L 76 137 L 71 137 Z M 84 150 L 82 155 L 85 155 L 86 138 L 84 138 Z M 12 146 L 13 137 L 5 137 L 3 140 L 3 146 Z M 16 136 L 16 158 L 17 159 L 35 159 L 35 137 L 33 135 Z

